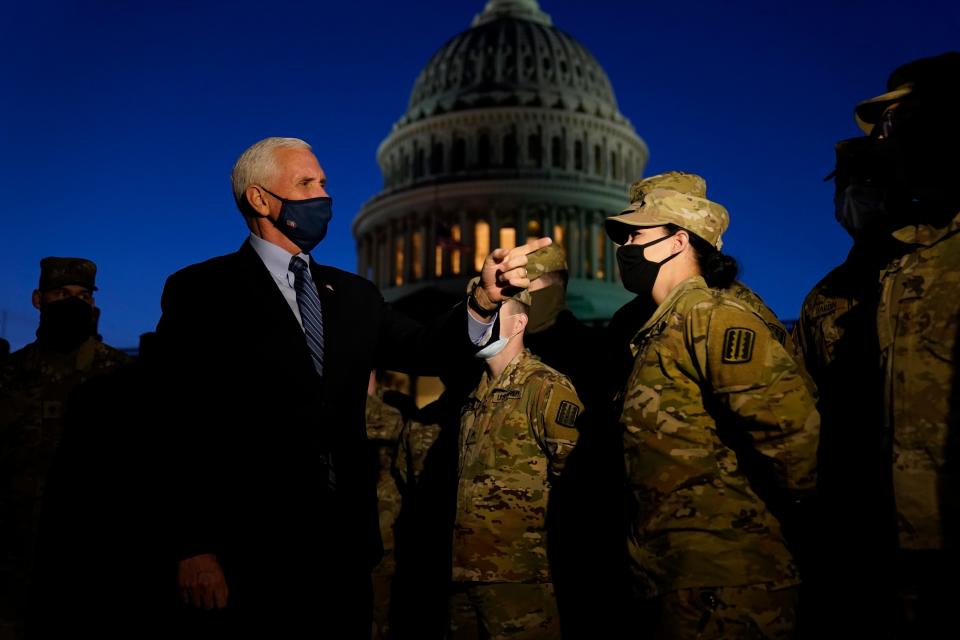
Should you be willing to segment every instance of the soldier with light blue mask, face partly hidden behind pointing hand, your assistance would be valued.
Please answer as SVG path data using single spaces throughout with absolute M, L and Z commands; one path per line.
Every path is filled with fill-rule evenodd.
M 529 293 L 500 311 L 499 340 L 463 408 L 453 533 L 453 638 L 556 638 L 546 514 L 577 440 L 570 381 L 523 347 Z

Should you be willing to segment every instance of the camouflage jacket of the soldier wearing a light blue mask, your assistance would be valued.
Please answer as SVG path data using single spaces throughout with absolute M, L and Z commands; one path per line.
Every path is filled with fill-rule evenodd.
M 549 479 L 577 440 L 583 409 L 566 376 L 524 350 L 485 372 L 463 408 L 453 579 L 549 582 Z

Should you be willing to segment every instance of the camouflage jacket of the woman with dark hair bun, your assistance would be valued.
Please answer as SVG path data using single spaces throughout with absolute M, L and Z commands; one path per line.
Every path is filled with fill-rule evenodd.
M 633 349 L 621 421 L 640 595 L 798 583 L 758 495 L 815 484 L 819 415 L 796 363 L 758 315 L 699 276 L 670 293 Z

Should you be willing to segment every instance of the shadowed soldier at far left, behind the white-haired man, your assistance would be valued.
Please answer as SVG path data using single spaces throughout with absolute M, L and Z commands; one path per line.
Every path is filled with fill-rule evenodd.
M 21 633 L 41 501 L 67 397 L 84 381 L 130 362 L 95 337 L 95 277 L 89 260 L 44 258 L 33 292 L 40 311 L 37 340 L 0 369 L 0 638 Z

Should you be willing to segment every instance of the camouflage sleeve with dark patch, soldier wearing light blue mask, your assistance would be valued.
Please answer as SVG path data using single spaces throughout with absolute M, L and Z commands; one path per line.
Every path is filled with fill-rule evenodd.
M 576 421 L 583 411 L 583 403 L 570 380 L 562 375 L 552 375 L 543 379 L 531 409 L 530 424 L 534 437 L 547 456 L 550 477 L 558 478 L 577 443 Z

